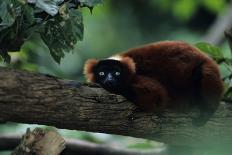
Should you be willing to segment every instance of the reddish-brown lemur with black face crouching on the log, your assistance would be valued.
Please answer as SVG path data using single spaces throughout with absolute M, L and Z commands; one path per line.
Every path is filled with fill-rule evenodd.
M 84 74 L 89 82 L 123 95 L 144 111 L 161 113 L 197 105 L 201 112 L 196 125 L 207 122 L 223 93 L 217 64 L 181 41 L 152 43 L 100 61 L 90 59 Z

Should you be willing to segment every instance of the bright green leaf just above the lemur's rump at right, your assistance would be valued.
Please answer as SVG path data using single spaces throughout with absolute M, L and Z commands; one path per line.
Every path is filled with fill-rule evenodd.
M 207 53 L 210 57 L 217 61 L 217 63 L 225 61 L 224 55 L 219 47 L 206 42 L 197 43 L 195 46 L 202 52 Z

